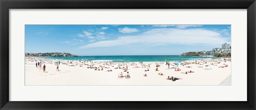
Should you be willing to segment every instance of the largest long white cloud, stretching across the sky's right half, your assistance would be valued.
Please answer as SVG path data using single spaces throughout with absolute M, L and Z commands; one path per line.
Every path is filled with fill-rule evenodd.
M 81 49 L 99 47 L 117 47 L 139 44 L 187 44 L 187 45 L 220 45 L 229 42 L 220 33 L 204 29 L 153 29 L 133 36 L 121 36 L 115 40 L 93 42 L 81 46 Z

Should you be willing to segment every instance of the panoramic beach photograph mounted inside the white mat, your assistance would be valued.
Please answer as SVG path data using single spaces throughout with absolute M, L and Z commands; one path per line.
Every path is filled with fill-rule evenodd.
M 231 86 L 231 25 L 25 25 L 25 85 Z

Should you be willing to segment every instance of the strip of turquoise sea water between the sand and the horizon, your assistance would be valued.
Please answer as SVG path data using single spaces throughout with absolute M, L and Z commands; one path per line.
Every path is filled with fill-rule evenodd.
M 73 60 L 73 61 L 114 61 L 114 62 L 160 62 L 160 61 L 188 61 L 199 59 L 218 59 L 216 57 L 191 56 L 79 56 L 79 57 L 42 57 L 46 59 Z

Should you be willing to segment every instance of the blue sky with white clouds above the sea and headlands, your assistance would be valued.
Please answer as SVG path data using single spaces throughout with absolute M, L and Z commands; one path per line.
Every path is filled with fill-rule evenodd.
M 178 55 L 231 43 L 231 25 L 25 25 L 25 52 Z

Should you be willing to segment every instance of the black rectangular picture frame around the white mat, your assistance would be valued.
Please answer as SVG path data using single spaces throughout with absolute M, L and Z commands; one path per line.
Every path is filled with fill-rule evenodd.
M 69 8 L 247 9 L 245 102 L 13 102 L 9 101 L 9 10 Z M 255 109 L 255 0 L 0 0 L 1 109 Z M 241 73 L 243 74 L 243 73 Z M 245 74 L 245 73 L 244 73 Z M 129 105 L 129 106 L 127 106 Z

